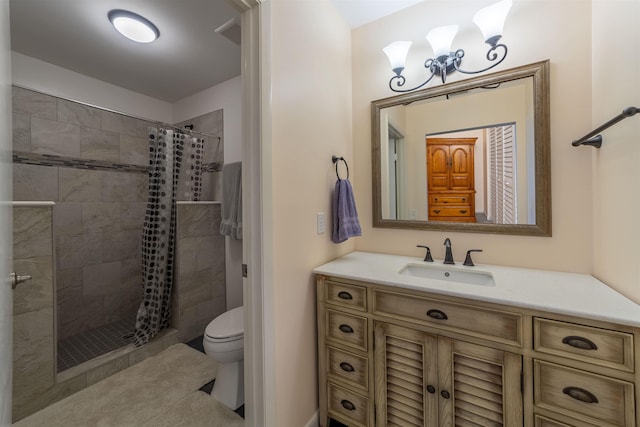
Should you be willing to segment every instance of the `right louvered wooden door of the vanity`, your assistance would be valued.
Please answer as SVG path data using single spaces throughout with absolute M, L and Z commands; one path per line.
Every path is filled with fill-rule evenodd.
M 522 426 L 521 373 L 517 354 L 439 337 L 439 426 Z

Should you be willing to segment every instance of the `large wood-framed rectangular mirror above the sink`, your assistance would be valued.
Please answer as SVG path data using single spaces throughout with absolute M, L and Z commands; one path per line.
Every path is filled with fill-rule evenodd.
M 548 60 L 371 112 L 374 227 L 551 236 Z

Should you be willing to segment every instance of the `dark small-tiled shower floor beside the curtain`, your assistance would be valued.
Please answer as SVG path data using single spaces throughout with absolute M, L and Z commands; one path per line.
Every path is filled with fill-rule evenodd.
M 131 342 L 134 324 L 121 320 L 58 342 L 58 372 L 73 368 Z

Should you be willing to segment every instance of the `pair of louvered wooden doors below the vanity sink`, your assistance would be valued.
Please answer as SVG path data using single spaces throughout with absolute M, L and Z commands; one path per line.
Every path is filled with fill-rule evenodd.
M 520 355 L 389 323 L 375 340 L 376 425 L 522 424 Z

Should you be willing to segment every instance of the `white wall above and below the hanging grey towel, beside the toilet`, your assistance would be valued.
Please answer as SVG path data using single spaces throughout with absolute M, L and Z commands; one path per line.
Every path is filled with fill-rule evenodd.
M 173 104 L 173 121 L 224 110 L 224 162 L 242 161 L 242 105 L 240 76 L 227 80 Z M 242 305 L 242 241 L 225 238 L 227 310 Z

